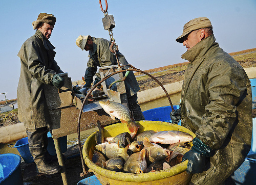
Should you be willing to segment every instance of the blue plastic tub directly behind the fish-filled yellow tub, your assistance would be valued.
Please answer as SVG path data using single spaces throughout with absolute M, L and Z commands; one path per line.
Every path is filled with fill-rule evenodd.
M 179 108 L 179 105 L 174 105 L 174 110 Z M 165 106 L 143 111 L 142 113 L 147 121 L 164 121 L 169 123 L 172 122 L 170 119 L 170 112 L 172 112 L 172 108 L 170 106 Z M 180 125 L 180 122 L 178 124 Z

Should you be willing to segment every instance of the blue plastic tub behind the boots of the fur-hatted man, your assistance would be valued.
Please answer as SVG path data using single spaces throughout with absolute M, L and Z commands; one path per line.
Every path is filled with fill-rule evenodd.
M 53 142 L 51 133 L 48 132 L 47 136 L 48 136 L 47 150 L 51 155 L 56 155 L 56 150 L 55 150 L 55 146 L 54 146 L 54 142 Z M 66 152 L 67 151 L 67 136 L 60 137 L 60 138 L 58 138 L 58 140 L 59 140 L 61 152 L 62 153 Z M 8 146 L 11 147 L 10 145 L 12 145 L 12 144 L 9 144 Z M 34 161 L 32 155 L 29 151 L 28 137 L 18 140 L 15 143 L 14 148 L 17 148 L 20 156 L 22 156 L 25 163 L 28 164 L 28 163 L 32 163 Z

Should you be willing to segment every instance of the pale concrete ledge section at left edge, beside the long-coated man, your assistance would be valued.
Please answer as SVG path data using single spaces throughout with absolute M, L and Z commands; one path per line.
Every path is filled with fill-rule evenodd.
M 17 123 L 0 128 L 0 143 L 10 143 L 27 137 L 23 123 Z

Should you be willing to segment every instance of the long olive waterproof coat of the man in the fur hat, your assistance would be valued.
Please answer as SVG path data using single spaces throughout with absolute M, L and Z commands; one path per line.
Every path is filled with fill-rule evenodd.
M 50 124 L 44 87 L 52 86 L 53 75 L 62 72 L 54 60 L 54 48 L 37 30 L 18 52 L 21 63 L 17 88 L 18 118 L 26 128 Z

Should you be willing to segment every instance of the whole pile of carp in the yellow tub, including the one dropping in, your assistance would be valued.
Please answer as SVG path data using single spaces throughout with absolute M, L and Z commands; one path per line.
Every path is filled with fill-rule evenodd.
M 177 130 L 145 130 L 137 134 L 139 125 L 131 119 L 126 107 L 112 101 L 101 101 L 100 104 L 112 118 L 126 123 L 131 133 L 104 138 L 98 121 L 92 161 L 99 167 L 126 173 L 155 172 L 181 163 L 182 156 L 190 150 L 188 142 L 193 137 L 189 134 Z

